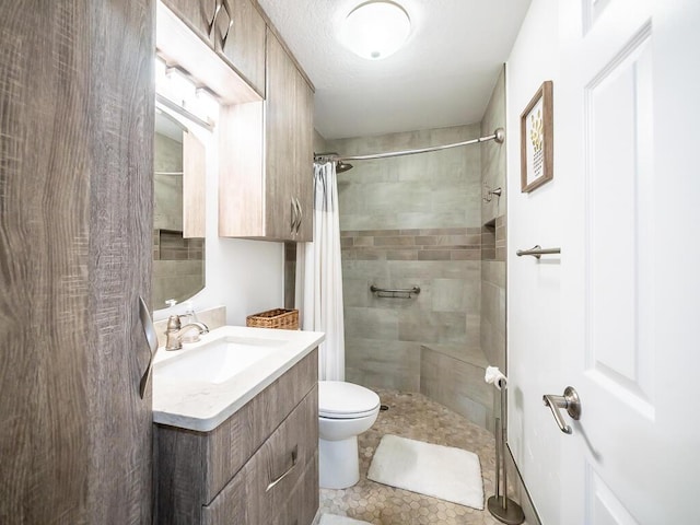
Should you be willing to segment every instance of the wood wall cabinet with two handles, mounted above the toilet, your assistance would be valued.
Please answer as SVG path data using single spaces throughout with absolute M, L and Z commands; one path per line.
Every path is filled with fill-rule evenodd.
M 222 108 L 219 235 L 312 241 L 313 91 L 272 31 L 266 100 Z

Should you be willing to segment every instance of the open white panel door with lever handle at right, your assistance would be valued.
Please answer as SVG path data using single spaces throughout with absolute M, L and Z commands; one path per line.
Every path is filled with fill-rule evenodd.
M 560 5 L 563 523 L 700 523 L 700 2 Z

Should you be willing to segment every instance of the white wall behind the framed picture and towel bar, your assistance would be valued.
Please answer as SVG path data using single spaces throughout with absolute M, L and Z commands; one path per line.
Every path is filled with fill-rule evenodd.
M 545 524 L 559 524 L 561 438 L 544 394 L 561 394 L 559 294 L 556 257 L 516 257 L 517 249 L 561 244 L 558 203 L 564 173 L 530 194 L 521 192 L 520 115 L 546 80 L 553 81 L 555 144 L 559 55 L 558 1 L 533 0 L 508 60 L 508 371 L 509 445 Z M 556 149 L 555 149 L 556 151 Z M 559 431 L 557 431 L 559 432 Z M 560 434 L 560 433 L 559 433 Z

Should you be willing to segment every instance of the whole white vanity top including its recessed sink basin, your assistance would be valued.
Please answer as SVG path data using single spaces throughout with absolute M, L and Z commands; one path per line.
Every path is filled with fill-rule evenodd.
M 160 349 L 153 364 L 153 421 L 209 432 L 324 340 L 324 334 L 222 326 Z

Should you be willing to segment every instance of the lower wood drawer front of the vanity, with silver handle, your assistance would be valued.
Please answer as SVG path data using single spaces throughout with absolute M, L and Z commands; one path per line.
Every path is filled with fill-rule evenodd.
M 315 462 L 317 407 L 318 388 L 314 386 L 221 493 L 202 508 L 203 524 L 275 523 L 299 481 L 310 476 L 306 467 Z

